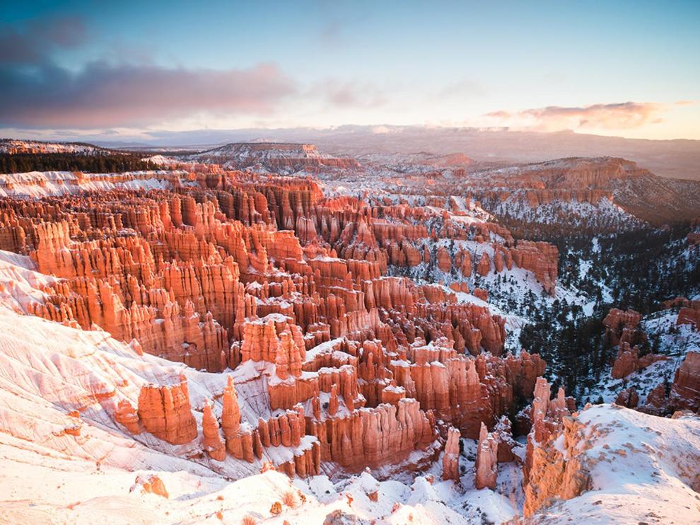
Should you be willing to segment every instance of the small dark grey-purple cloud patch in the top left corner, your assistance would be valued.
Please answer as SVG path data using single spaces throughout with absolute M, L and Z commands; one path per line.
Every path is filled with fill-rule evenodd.
M 87 30 L 77 16 L 32 21 L 20 30 L 0 27 L 0 64 L 40 64 L 55 50 L 77 47 L 86 41 Z

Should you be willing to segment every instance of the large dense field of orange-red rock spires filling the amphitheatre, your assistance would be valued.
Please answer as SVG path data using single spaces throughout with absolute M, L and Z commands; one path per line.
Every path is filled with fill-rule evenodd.
M 476 438 L 482 423 L 491 427 L 532 395 L 544 362 L 527 352 L 500 357 L 506 320 L 458 301 L 469 286 L 453 278 L 453 265 L 465 278 L 473 265 L 487 275 L 491 258 L 497 271 L 513 265 L 507 229 L 457 219 L 479 214 L 474 202 L 465 209 L 439 193 L 426 205 L 325 199 L 310 178 L 180 167 L 189 173 L 75 175 L 76 190 L 136 177 L 172 190 L 0 197 L 0 247 L 29 253 L 40 271 L 62 277 L 30 306 L 37 316 L 100 327 L 136 354 L 210 372 L 243 364 L 243 376 L 259 374 L 250 381 L 267 385 L 269 406 L 256 398 L 245 415 L 264 408 L 267 419 L 241 417 L 229 378 L 225 446 L 204 403 L 202 445 L 214 460 L 274 458 L 274 468 L 301 476 L 320 473 L 322 460 L 350 471 L 416 466 L 436 459 L 438 417 Z M 483 243 L 483 255 L 472 260 L 451 241 Z M 549 260 L 547 248 L 517 249 L 536 252 L 520 262 L 556 279 L 535 264 Z M 431 262 L 453 274 L 454 293 L 386 275 L 389 265 Z M 485 290 L 474 294 L 488 299 Z M 124 401 L 114 417 L 129 432 L 173 444 L 197 437 L 184 381 L 144 386 L 138 410 Z

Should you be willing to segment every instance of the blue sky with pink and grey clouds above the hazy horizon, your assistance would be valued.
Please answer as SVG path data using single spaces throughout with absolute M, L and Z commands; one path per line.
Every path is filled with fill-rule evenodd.
M 0 4 L 0 136 L 430 125 L 700 139 L 700 1 Z

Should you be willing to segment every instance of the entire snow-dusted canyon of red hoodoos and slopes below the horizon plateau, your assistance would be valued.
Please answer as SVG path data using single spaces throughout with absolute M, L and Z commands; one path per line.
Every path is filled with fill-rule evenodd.
M 596 253 L 653 229 L 677 191 L 638 200 L 655 175 L 263 142 L 159 157 L 0 175 L 0 519 L 696 522 L 699 283 L 651 312 L 596 299 L 597 269 L 539 229 L 585 217 Z M 523 342 L 561 304 L 561 330 L 607 308 L 583 386 Z M 64 488 L 28 509 L 42 476 Z

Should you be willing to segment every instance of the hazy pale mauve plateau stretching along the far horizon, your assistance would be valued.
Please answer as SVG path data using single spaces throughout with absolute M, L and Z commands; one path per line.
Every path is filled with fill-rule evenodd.
M 192 147 L 197 144 L 248 142 L 265 137 L 277 142 L 312 142 L 325 154 L 360 156 L 370 153 L 432 154 L 463 152 L 474 161 L 532 163 L 581 156 L 623 157 L 666 178 L 700 180 L 700 141 L 650 140 L 564 132 L 512 131 L 505 128 L 344 125 L 317 129 L 199 129 L 152 132 L 146 144 Z M 93 140 L 104 146 L 115 143 Z M 201 146 L 200 146 L 201 147 Z

